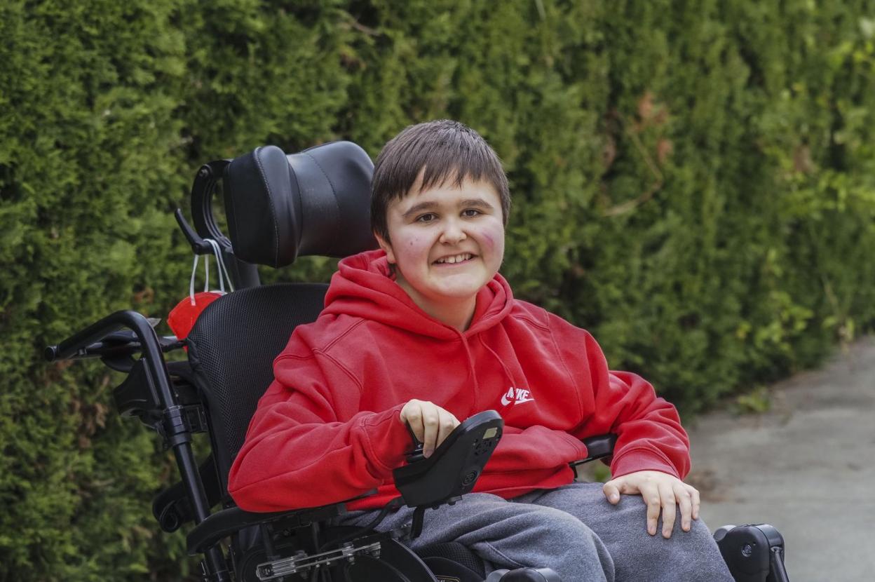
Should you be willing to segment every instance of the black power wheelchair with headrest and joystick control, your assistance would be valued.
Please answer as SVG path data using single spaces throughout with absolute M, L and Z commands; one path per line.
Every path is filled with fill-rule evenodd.
M 119 412 L 157 431 L 179 467 L 181 480 L 155 496 L 153 515 L 168 532 L 193 523 L 187 549 L 202 556 L 205 582 L 558 580 L 549 564 L 487 577 L 485 564 L 458 543 L 418 554 L 402 543 L 421 530 L 427 508 L 439 511 L 471 491 L 500 438 L 501 419 L 494 411 L 466 420 L 430 459 L 411 441 L 408 463 L 395 471 L 402 493 L 396 501 L 416 511 L 400 530 L 333 527 L 332 518 L 346 512 L 345 501 L 261 514 L 237 508 L 228 495 L 228 471 L 256 403 L 273 380 L 273 358 L 295 326 L 317 318 L 327 289 L 262 285 L 256 265 L 279 268 L 297 256 L 342 257 L 374 249 L 368 218 L 372 172 L 365 151 L 349 142 L 288 156 L 267 146 L 203 165 L 192 190 L 194 228 L 181 211 L 176 218 L 196 254 L 213 253 L 208 240 L 218 242 L 237 291 L 208 305 L 184 340 L 159 337 L 150 320 L 123 311 L 47 347 L 45 356 L 100 358 L 127 375 L 113 390 Z M 220 180 L 228 236 L 213 213 Z M 165 361 L 165 353 L 183 347 L 187 361 Z M 193 452 L 199 432 L 207 433 L 211 451 L 200 465 Z M 613 440 L 612 435 L 589 439 L 590 456 L 579 462 L 610 456 Z M 715 537 L 738 582 L 788 579 L 783 539 L 772 526 L 725 526 Z

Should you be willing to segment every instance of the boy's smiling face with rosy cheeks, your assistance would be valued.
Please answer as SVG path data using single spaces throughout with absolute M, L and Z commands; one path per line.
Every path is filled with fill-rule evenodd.
M 387 208 L 390 242 L 377 237 L 397 283 L 410 298 L 434 315 L 447 308 L 472 305 L 504 256 L 501 201 L 487 182 L 448 180 L 421 191 L 417 179 L 410 193 Z

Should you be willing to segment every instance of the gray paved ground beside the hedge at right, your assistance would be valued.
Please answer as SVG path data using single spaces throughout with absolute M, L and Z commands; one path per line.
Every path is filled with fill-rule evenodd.
M 875 338 L 772 396 L 765 414 L 688 427 L 705 522 L 780 529 L 791 582 L 875 580 Z

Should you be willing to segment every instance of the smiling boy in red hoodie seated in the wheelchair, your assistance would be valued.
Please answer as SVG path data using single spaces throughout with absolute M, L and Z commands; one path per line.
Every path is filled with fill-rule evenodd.
M 515 300 L 498 274 L 509 209 L 498 157 L 465 125 L 421 123 L 386 144 L 372 183 L 380 250 L 339 263 L 325 310 L 276 358 L 231 470 L 235 501 L 276 511 L 378 487 L 348 504 L 364 510 L 350 522 L 367 522 L 398 495 L 405 423 L 429 456 L 459 418 L 494 409 L 504 435 L 475 493 L 426 512 L 414 549 L 458 541 L 496 568 L 547 566 L 568 582 L 731 582 L 681 480 L 675 408 L 609 372 L 589 333 Z M 580 439 L 606 432 L 618 435 L 613 480 L 573 483 Z

